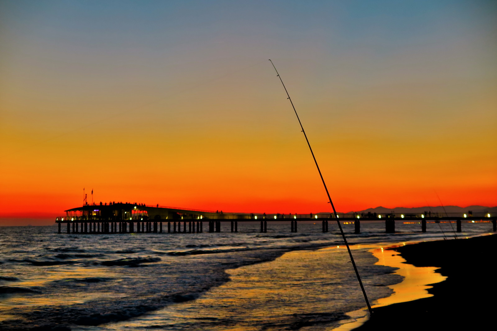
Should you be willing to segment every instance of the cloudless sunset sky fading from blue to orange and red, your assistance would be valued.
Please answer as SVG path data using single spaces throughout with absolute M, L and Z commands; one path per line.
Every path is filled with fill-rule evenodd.
M 0 217 L 497 201 L 495 1 L 0 0 Z M 90 200 L 90 197 L 88 198 Z M 0 220 L 1 224 L 1 220 Z

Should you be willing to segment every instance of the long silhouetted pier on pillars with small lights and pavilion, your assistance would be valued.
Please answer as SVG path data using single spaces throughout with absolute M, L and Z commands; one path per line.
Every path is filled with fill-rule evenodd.
M 431 212 L 421 214 L 395 213 L 230 213 L 222 210 L 184 209 L 136 203 L 111 203 L 83 205 L 65 210 L 66 216 L 56 218 L 59 233 L 113 234 L 113 233 L 202 233 L 204 223 L 208 232 L 221 232 L 221 222 L 231 223 L 231 232 L 238 232 L 239 221 L 260 222 L 260 232 L 267 232 L 267 221 L 290 223 L 290 232 L 298 232 L 298 222 L 318 221 L 322 231 L 328 232 L 330 221 L 354 224 L 354 233 L 361 232 L 361 222 L 384 221 L 385 232 L 395 233 L 396 222 L 419 224 L 426 232 L 426 223 L 456 223 L 456 231 L 462 232 L 462 223 L 492 222 L 497 231 L 497 217 L 489 213 L 439 215 Z M 63 227 L 65 229 L 63 230 Z

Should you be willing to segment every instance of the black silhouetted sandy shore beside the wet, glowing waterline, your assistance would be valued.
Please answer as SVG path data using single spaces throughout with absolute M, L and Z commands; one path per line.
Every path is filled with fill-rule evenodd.
M 497 235 L 424 242 L 396 248 L 407 263 L 439 266 L 447 279 L 433 297 L 373 309 L 354 331 L 493 330 L 496 328 Z

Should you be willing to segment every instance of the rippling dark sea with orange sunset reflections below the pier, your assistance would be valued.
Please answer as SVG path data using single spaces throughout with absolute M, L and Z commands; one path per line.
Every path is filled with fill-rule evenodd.
M 207 223 L 204 229 L 207 229 Z M 338 226 L 239 222 L 238 233 L 58 234 L 0 227 L 0 329 L 52 331 L 333 330 L 366 308 Z M 371 249 L 451 240 L 492 223 L 343 224 L 371 303 L 403 276 Z

